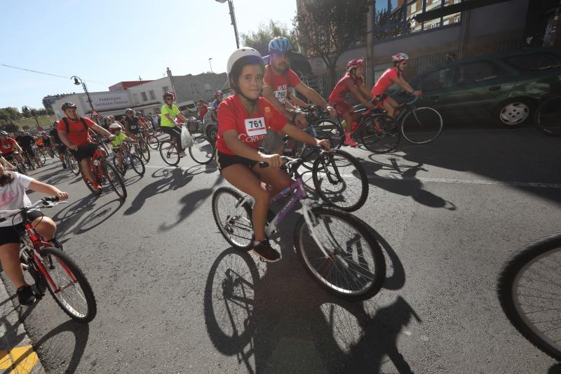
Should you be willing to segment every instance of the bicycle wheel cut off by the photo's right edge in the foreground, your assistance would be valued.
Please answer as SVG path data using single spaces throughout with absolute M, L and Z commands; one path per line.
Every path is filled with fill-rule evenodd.
M 561 360 L 561 234 L 516 253 L 501 270 L 503 312 L 529 342 Z

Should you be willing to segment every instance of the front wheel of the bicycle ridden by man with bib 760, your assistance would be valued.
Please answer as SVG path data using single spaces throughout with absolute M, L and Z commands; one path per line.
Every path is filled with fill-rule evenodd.
M 368 180 L 360 162 L 340 149 L 324 152 L 313 163 L 313 185 L 321 199 L 352 212 L 368 197 Z

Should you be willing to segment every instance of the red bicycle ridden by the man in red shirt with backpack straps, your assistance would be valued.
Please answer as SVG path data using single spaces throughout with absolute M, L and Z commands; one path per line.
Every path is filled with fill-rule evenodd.
M 100 140 L 97 145 L 103 146 L 108 142 L 110 142 L 110 140 Z M 78 147 L 78 149 L 83 149 L 85 147 L 87 146 Z M 86 183 L 86 186 L 93 194 L 100 195 L 102 189 L 94 189 L 91 182 L 88 180 L 86 174 L 83 173 L 81 168 L 82 166 L 80 164 L 80 172 L 82 174 L 83 182 Z M 95 149 L 95 152 L 90 159 L 90 168 L 93 171 L 93 177 L 95 178 L 97 184 L 99 184 L 100 186 L 109 184 L 111 186 L 111 189 L 113 189 L 117 196 L 119 196 L 119 199 L 126 199 L 127 189 L 125 187 L 125 183 L 119 176 L 119 172 L 117 171 L 117 169 L 113 165 L 111 165 L 109 161 L 107 161 L 106 149 L 101 149 L 100 147 L 97 147 L 97 149 Z

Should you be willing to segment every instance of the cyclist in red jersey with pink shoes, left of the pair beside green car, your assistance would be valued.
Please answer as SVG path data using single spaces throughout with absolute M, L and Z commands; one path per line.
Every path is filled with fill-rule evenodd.
M 368 109 L 375 109 L 370 102 L 370 92 L 364 84 L 364 60 L 351 60 L 346 65 L 346 74 L 337 82 L 333 91 L 329 95 L 329 103 L 337 111 L 337 115 L 345 119 L 345 142 L 344 145 L 356 147 L 356 142 L 351 139 L 351 130 L 355 116 L 353 115 L 353 107 L 345 101 L 345 95 L 351 93 L 358 101 L 362 102 Z

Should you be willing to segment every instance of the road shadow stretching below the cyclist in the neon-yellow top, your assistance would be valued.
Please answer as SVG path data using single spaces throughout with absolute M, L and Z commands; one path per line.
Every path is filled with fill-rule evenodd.
M 151 176 L 157 179 L 137 193 L 135 199 L 130 203 L 130 207 L 124 212 L 125 215 L 133 215 L 140 211 L 140 208 L 144 206 L 144 201 L 150 197 L 185 187 L 193 179 L 193 175 L 184 173 L 181 168 L 158 168 Z

